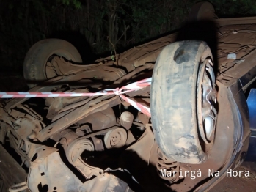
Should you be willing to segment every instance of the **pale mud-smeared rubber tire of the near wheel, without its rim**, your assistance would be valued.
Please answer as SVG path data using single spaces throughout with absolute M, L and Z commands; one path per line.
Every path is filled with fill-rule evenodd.
M 156 142 L 164 155 L 183 163 L 208 159 L 197 111 L 198 75 L 205 59 L 212 60 L 205 42 L 176 42 L 161 51 L 153 70 L 150 110 Z

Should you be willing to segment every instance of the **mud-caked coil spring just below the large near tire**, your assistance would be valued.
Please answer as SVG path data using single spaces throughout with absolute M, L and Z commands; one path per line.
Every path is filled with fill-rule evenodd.
M 158 169 L 158 174 L 163 180 L 168 182 L 177 182 L 180 178 L 180 162 L 167 158 L 161 149 L 157 149 L 158 161 L 156 168 Z

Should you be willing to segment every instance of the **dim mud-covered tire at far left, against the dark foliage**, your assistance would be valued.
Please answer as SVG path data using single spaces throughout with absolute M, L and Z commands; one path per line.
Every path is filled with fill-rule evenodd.
M 26 53 L 23 75 L 29 88 L 47 80 L 46 63 L 52 55 L 63 56 L 73 62 L 82 62 L 77 49 L 65 40 L 46 39 L 35 43 Z

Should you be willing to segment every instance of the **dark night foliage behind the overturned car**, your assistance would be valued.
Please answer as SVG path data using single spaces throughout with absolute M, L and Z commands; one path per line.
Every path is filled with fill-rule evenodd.
M 177 29 L 198 0 L 0 0 L 0 69 L 21 69 L 38 40 L 81 34 L 94 53 Z M 217 15 L 254 15 L 255 0 L 210 0 Z

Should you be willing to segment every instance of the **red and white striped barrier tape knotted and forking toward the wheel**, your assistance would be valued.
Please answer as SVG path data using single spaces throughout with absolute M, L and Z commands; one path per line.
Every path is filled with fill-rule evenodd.
M 151 85 L 152 78 L 145 78 L 141 81 L 136 81 L 132 84 L 122 86 L 120 89 L 105 89 L 100 92 L 0 92 L 0 98 L 32 98 L 32 97 L 80 97 L 80 96 L 98 96 L 98 95 L 119 95 L 127 103 L 130 103 L 131 106 L 134 106 L 137 110 L 141 111 L 143 114 L 151 117 L 150 108 L 143 106 L 140 103 L 136 103 L 134 100 L 131 100 L 125 95 L 122 95 L 126 92 L 133 92 L 138 89 L 142 89 L 146 86 Z

